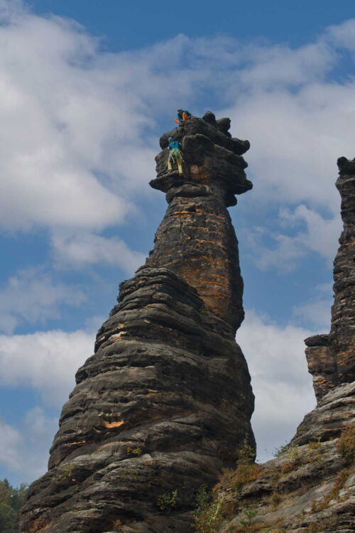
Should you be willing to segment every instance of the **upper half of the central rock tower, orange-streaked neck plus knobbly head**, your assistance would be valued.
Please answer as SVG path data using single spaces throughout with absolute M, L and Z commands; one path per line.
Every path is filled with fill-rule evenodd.
M 166 193 L 169 206 L 146 266 L 165 266 L 180 274 L 235 331 L 244 319 L 243 279 L 226 208 L 236 204 L 236 194 L 252 187 L 240 155 L 249 142 L 226 136 L 212 113 L 204 117 L 209 122 L 192 117 L 160 139 L 164 149 L 156 157 L 158 177 L 151 186 Z M 182 142 L 183 176 L 167 171 L 169 136 Z

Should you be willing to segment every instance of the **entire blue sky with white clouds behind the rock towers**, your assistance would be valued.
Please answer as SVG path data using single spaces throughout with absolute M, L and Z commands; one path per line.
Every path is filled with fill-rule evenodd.
M 329 330 L 338 156 L 355 146 L 351 1 L 0 0 L 0 478 L 31 482 L 118 284 L 165 212 L 175 109 L 249 139 L 231 217 L 261 460 L 315 405 L 302 340 Z M 265 451 L 267 450 L 267 452 Z

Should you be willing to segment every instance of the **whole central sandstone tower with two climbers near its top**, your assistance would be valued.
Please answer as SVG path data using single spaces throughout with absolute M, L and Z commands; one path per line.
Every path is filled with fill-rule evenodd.
M 226 210 L 252 186 L 249 142 L 229 126 L 209 112 L 160 139 L 151 185 L 168 210 L 77 372 L 22 533 L 190 532 L 196 490 L 234 464 L 244 438 L 254 444 L 250 376 L 234 340 L 243 281 Z M 182 142 L 183 176 L 166 171 L 170 135 Z

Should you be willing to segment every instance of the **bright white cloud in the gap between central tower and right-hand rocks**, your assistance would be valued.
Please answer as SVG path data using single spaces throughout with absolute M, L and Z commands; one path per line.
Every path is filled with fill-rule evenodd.
M 303 340 L 313 332 L 276 325 L 252 311 L 236 335 L 251 373 L 256 409 L 251 419 L 258 459 L 295 434 L 303 416 L 315 407 L 312 378 L 307 373 Z

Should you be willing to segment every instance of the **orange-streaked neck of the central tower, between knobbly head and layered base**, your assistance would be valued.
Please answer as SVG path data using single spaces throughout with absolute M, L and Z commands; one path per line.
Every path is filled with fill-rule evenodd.
M 219 318 L 239 328 L 244 319 L 238 241 L 223 195 L 205 185 L 170 188 L 168 210 L 146 266 L 177 272 Z

